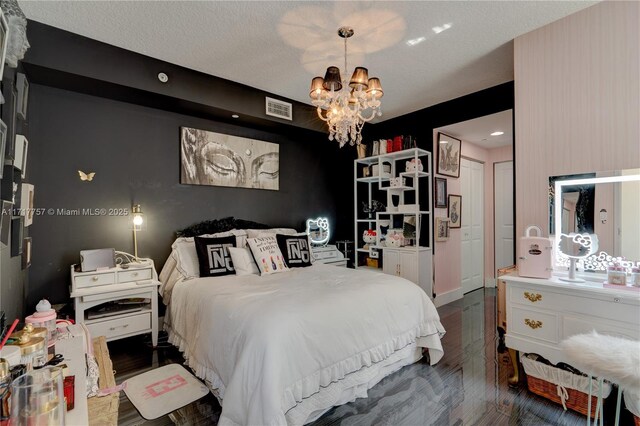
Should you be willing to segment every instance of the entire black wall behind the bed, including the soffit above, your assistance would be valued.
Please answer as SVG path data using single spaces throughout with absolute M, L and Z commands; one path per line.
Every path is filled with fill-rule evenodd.
M 42 297 L 68 301 L 80 250 L 132 252 L 130 217 L 118 213 L 133 204 L 146 219 L 139 255 L 158 272 L 174 232 L 208 219 L 303 229 L 307 218 L 324 215 L 335 238 L 348 235 L 352 204 L 343 197 L 352 191 L 355 149 L 329 142 L 309 105 L 37 22 L 29 22 L 29 41 L 30 178 L 44 214 L 31 226 L 27 310 Z M 169 83 L 157 80 L 160 71 Z M 293 122 L 267 116 L 265 96 L 291 102 Z M 280 190 L 181 185 L 181 126 L 279 144 Z M 82 181 L 78 170 L 96 174 Z

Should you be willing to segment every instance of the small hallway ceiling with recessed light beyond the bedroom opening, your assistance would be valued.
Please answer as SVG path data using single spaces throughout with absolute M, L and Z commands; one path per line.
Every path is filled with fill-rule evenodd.
M 513 143 L 513 110 L 485 115 L 435 130 L 486 149 L 511 145 Z M 491 133 L 498 131 L 503 134 L 491 136 Z

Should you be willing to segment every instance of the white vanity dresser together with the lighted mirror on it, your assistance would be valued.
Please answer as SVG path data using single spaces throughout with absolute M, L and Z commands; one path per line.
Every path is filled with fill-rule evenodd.
M 560 342 L 573 335 L 595 330 L 640 341 L 640 287 L 629 280 L 640 266 L 640 169 L 549 180 L 553 275 L 500 277 L 506 283 L 505 344 L 515 370 L 511 384 L 518 381 L 517 352 L 571 364 Z M 519 253 L 519 264 L 540 254 Z M 620 273 L 622 283 L 606 283 L 618 284 Z

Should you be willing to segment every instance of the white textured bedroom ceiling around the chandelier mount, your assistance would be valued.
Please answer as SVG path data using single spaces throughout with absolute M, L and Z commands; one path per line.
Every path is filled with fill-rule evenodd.
M 515 37 L 594 3 L 19 1 L 29 19 L 305 103 L 312 77 L 344 67 L 349 25 L 349 68 L 382 80 L 382 120 L 511 81 Z

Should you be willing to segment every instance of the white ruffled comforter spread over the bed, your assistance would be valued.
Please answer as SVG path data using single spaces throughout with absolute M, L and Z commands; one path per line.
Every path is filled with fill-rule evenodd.
M 178 282 L 170 339 L 224 399 L 219 424 L 283 425 L 287 411 L 410 345 L 443 355 L 433 303 L 417 285 L 314 264 L 268 276 Z M 394 355 L 395 354 L 395 355 Z

